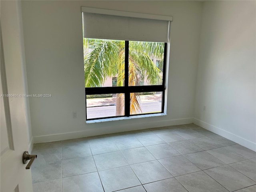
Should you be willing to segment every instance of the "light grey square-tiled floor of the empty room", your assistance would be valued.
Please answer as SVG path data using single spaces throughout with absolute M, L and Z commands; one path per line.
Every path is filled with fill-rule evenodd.
M 256 152 L 195 124 L 34 144 L 34 192 L 255 192 Z

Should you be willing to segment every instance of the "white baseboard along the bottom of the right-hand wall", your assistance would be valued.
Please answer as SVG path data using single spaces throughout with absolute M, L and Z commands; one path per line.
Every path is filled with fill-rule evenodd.
M 199 119 L 196 119 L 196 118 L 194 118 L 194 124 L 196 124 L 198 126 L 201 126 L 202 128 L 205 128 L 205 129 L 207 129 L 211 132 L 214 132 L 214 133 L 216 133 L 216 134 L 218 134 L 222 137 L 225 137 L 225 138 L 227 138 L 231 141 L 234 141 L 234 142 L 236 142 L 236 143 L 238 143 L 238 144 L 240 144 L 240 145 L 242 145 L 242 146 L 244 146 L 244 147 L 246 147 L 250 150 L 256 151 L 256 143 L 254 143 L 254 142 L 246 140 L 246 139 L 244 139 L 240 136 L 237 136 L 233 133 L 230 133 L 226 130 L 223 130 L 221 128 L 218 128 L 216 126 L 213 126 L 211 124 L 208 124 L 208 123 L 206 123 L 204 121 L 201 121 Z

